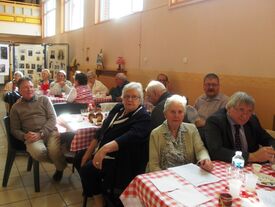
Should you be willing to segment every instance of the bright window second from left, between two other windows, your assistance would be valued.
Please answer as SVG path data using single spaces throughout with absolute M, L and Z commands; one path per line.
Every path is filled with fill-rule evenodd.
M 65 31 L 83 27 L 84 0 L 65 0 Z

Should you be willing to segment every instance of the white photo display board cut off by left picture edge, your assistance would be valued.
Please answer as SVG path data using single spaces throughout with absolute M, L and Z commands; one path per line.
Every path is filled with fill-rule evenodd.
M 9 45 L 0 43 L 0 76 L 9 75 Z

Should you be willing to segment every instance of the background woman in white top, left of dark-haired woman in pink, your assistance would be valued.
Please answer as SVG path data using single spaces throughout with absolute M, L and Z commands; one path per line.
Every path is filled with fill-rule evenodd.
M 61 96 L 62 93 L 69 94 L 72 87 L 72 83 L 66 80 L 66 72 L 64 70 L 58 71 L 56 74 L 56 81 L 50 85 L 50 94 L 55 96 Z

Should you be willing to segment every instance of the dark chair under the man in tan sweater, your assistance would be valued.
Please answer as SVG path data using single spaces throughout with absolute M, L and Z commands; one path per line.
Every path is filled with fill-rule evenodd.
M 33 165 L 33 177 L 34 177 L 34 189 L 35 192 L 40 192 L 40 180 L 39 180 L 39 162 L 37 160 L 34 160 L 26 151 L 25 144 L 16 139 L 12 136 L 10 132 L 10 118 L 8 116 L 3 118 L 5 129 L 6 129 L 6 137 L 8 140 L 8 153 L 7 153 L 7 159 L 6 159 L 6 165 L 5 165 L 5 171 L 3 176 L 3 182 L 2 186 L 7 187 L 11 168 L 13 165 L 13 162 L 15 160 L 15 156 L 17 154 L 26 154 L 29 156 L 28 158 L 28 165 L 27 165 L 27 171 L 30 171 Z

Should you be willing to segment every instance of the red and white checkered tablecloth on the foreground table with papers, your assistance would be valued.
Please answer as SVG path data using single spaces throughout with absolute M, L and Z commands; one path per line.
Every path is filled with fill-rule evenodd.
M 227 189 L 227 169 L 230 166 L 229 163 L 214 161 L 214 170 L 212 173 L 222 180 L 216 183 L 210 183 L 206 185 L 201 185 L 195 187 L 198 191 L 203 193 L 205 196 L 208 196 L 211 200 L 201 204 L 200 206 L 213 207 L 219 206 L 218 197 L 222 192 L 228 192 Z M 244 172 L 250 172 L 251 165 L 245 167 Z M 263 165 L 261 173 L 270 173 L 272 172 L 270 165 Z M 189 184 L 188 181 L 184 180 L 182 177 L 179 177 L 176 173 L 170 170 L 163 170 L 158 172 L 152 172 L 147 174 L 138 175 L 132 180 L 128 187 L 121 194 L 120 199 L 123 202 L 124 206 L 146 206 L 146 207 L 179 207 L 182 206 L 180 203 L 172 199 L 165 192 L 160 192 L 154 184 L 150 181 L 152 178 L 162 178 L 166 176 L 173 176 L 182 184 Z M 190 184 L 189 184 L 190 185 Z M 262 187 L 257 185 L 257 189 L 265 189 L 269 191 L 274 191 L 274 188 Z M 248 198 L 250 202 L 257 203 L 258 198 L 256 193 L 249 193 Z M 232 206 L 241 206 L 241 199 L 237 198 L 233 200 Z

